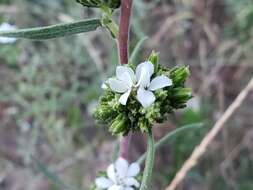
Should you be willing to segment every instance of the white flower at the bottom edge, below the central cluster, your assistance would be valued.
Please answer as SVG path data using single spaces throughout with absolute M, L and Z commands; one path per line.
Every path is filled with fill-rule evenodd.
M 131 165 L 123 158 L 107 168 L 107 177 L 99 177 L 95 183 L 99 189 L 107 190 L 134 190 L 140 186 L 135 177 L 140 172 L 140 166 L 137 163 Z

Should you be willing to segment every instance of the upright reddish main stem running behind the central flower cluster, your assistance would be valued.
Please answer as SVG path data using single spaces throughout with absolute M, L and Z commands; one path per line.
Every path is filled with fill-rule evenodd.
M 119 24 L 119 59 L 120 63 L 128 63 L 128 40 L 129 40 L 129 28 L 130 28 L 130 18 L 132 9 L 132 0 L 121 0 L 121 13 L 120 13 L 120 24 Z M 129 133 L 127 136 L 123 137 L 120 142 L 120 157 L 129 159 L 129 146 L 132 134 Z

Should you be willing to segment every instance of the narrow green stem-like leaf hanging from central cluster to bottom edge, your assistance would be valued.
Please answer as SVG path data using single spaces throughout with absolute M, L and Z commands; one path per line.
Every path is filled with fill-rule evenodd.
M 155 142 L 152 130 L 148 133 L 147 159 L 140 190 L 148 190 L 152 179 L 153 165 L 155 159 Z

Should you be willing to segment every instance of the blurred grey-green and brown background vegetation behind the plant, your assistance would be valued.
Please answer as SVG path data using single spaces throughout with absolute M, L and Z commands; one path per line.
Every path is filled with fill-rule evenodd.
M 74 0 L 0 0 L 1 23 L 18 28 L 98 16 Z M 187 86 L 194 91 L 187 109 L 155 126 L 156 138 L 185 124 L 204 124 L 157 151 L 151 189 L 161 190 L 253 75 L 253 1 L 135 0 L 131 50 L 145 36 L 138 61 L 154 49 L 160 64 L 189 65 Z M 118 143 L 92 117 L 101 83 L 117 64 L 116 44 L 102 29 L 0 44 L 0 190 L 61 189 L 31 155 L 65 184 L 88 189 Z M 251 93 L 178 189 L 252 190 L 252 116 Z M 133 161 L 146 147 L 137 136 Z

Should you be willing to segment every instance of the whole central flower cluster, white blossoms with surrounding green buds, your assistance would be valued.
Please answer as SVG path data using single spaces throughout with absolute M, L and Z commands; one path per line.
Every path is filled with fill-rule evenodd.
M 152 53 L 136 68 L 118 66 L 116 77 L 102 85 L 104 94 L 95 117 L 109 124 L 112 134 L 148 132 L 154 123 L 166 120 L 168 113 L 185 107 L 192 97 L 191 90 L 184 87 L 188 67 L 168 69 L 158 65 L 157 60 L 158 55 Z

